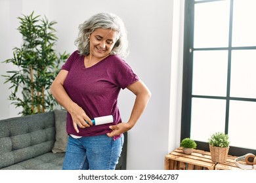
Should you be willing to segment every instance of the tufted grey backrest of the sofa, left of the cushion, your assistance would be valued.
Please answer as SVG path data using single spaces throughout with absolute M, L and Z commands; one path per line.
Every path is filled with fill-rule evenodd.
M 54 112 L 0 120 L 0 169 L 51 152 L 54 137 Z

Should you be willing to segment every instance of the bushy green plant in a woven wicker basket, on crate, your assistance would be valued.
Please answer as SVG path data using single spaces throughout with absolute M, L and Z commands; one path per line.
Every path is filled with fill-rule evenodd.
M 224 163 L 228 156 L 229 141 L 228 135 L 222 132 L 216 132 L 208 139 L 211 152 L 211 161 L 215 163 Z

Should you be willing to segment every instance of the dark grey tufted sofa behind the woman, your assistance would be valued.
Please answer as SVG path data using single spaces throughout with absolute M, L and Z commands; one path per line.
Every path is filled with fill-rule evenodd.
M 66 111 L 0 120 L 0 169 L 60 170 L 65 156 Z M 116 169 L 126 169 L 127 133 Z

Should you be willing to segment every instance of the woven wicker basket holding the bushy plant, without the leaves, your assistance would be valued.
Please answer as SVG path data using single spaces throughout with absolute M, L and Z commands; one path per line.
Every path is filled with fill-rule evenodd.
M 225 163 L 228 157 L 229 146 L 226 148 L 210 146 L 211 161 L 214 163 Z

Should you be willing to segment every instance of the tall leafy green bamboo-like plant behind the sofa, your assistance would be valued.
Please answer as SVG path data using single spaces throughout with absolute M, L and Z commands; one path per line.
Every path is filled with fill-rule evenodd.
M 5 83 L 11 83 L 9 100 L 16 107 L 22 107 L 19 114 L 23 116 L 47 112 L 58 105 L 49 89 L 59 72 L 58 65 L 68 58 L 66 52 L 56 54 L 54 50 L 57 37 L 53 25 L 56 22 L 39 17 L 33 16 L 33 12 L 29 16 L 18 17 L 21 47 L 13 49 L 13 58 L 3 61 L 17 68 L 3 76 Z

